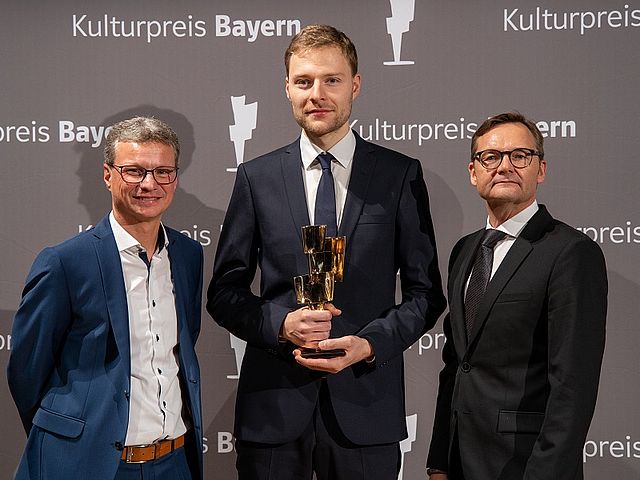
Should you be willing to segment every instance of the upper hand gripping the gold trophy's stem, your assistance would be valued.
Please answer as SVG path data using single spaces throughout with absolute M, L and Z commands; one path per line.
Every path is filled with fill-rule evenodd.
M 311 310 L 303 307 L 289 312 L 282 323 L 281 335 L 299 347 L 317 348 L 318 342 L 329 338 L 331 319 L 342 314 L 331 303 L 325 303 L 324 308 Z

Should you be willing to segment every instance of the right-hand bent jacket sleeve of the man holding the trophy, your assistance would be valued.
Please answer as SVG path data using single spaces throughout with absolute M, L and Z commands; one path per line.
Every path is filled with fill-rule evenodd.
M 431 329 L 446 304 L 427 187 L 417 160 L 404 178 L 395 228 L 394 261 L 400 271 L 402 301 L 358 333 L 373 345 L 378 364 L 401 355 Z

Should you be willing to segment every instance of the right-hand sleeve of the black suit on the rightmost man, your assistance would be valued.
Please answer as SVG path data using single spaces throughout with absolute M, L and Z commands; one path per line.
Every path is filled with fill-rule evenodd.
M 549 398 L 524 479 L 573 478 L 593 416 L 605 345 L 607 274 L 589 239 L 559 255 L 548 287 Z

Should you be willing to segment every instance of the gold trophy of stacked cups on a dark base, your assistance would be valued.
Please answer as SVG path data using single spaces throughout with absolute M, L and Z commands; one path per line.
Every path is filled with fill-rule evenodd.
M 333 300 L 335 282 L 344 278 L 346 237 L 327 237 L 325 225 L 302 227 L 302 249 L 309 260 L 309 274 L 293 277 L 296 301 L 311 310 L 323 310 Z M 345 354 L 341 348 L 319 350 L 302 348 L 305 358 L 332 358 Z

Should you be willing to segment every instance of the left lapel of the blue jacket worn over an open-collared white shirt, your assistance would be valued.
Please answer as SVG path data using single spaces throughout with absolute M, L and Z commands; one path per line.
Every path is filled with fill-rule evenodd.
M 122 264 L 116 245 L 109 217 L 104 217 L 93 229 L 95 237 L 94 247 L 98 264 L 100 265 L 100 276 L 102 278 L 102 289 L 109 322 L 118 346 L 121 358 L 126 362 L 127 371 L 131 371 L 130 350 L 129 350 L 129 312 L 127 309 L 127 294 L 124 288 L 122 274 Z

